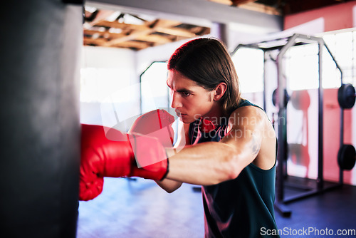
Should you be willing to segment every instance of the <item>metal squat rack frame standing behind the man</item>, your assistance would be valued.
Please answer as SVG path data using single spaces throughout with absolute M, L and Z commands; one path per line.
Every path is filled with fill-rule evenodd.
M 288 144 L 287 144 L 287 127 L 286 123 L 279 123 L 286 118 L 286 108 L 288 103 L 288 94 L 286 92 L 286 78 L 283 77 L 283 56 L 285 56 L 288 49 L 293 46 L 300 46 L 310 43 L 318 43 L 318 74 L 319 74 L 319 88 L 318 88 L 318 178 L 316 180 L 316 187 L 310 188 L 310 190 L 305 192 L 300 192 L 298 195 L 293 195 L 290 197 L 285 197 L 285 185 L 284 185 L 284 176 L 285 176 L 285 167 L 284 163 L 286 158 L 288 157 Z M 300 200 L 305 197 L 310 197 L 313 195 L 318 195 L 321 192 L 325 192 L 327 190 L 341 187 L 343 184 L 343 170 L 340 168 L 340 180 L 338 183 L 333 185 L 325 186 L 324 183 L 324 175 L 323 175 L 323 53 L 324 47 L 327 50 L 327 53 L 330 54 L 333 59 L 336 68 L 340 71 L 340 80 L 342 85 L 342 70 L 340 66 L 337 64 L 333 54 L 331 53 L 328 46 L 325 44 L 323 38 L 315 37 L 315 36 L 307 36 L 303 34 L 295 33 L 292 36 L 283 37 L 283 38 L 275 38 L 269 41 L 261 41 L 258 43 L 251 44 L 240 44 L 233 51 L 239 50 L 239 48 L 254 48 L 260 49 L 264 52 L 265 65 L 266 65 L 266 56 L 269 51 L 278 50 L 278 55 L 276 57 L 276 66 L 277 66 L 277 89 L 276 89 L 276 106 L 278 107 L 278 153 L 277 153 L 277 175 L 276 175 L 276 203 L 275 207 L 278 212 L 284 217 L 289 217 L 291 214 L 290 209 L 285 205 L 288 202 L 293 202 L 295 200 Z M 263 109 L 266 110 L 266 70 L 263 75 Z M 343 109 L 341 108 L 340 113 L 340 143 L 343 143 Z M 281 120 L 282 119 L 282 120 Z

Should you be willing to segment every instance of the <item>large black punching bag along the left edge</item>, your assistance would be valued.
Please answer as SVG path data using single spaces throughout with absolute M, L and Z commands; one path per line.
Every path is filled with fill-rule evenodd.
M 1 9 L 0 237 L 75 237 L 83 6 Z

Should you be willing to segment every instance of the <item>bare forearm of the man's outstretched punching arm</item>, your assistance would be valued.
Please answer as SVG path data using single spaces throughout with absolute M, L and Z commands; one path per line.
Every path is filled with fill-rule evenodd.
M 187 146 L 169 153 L 167 178 L 194 185 L 215 185 L 239 175 L 242 167 L 236 160 L 236 150 L 225 143 L 209 142 Z

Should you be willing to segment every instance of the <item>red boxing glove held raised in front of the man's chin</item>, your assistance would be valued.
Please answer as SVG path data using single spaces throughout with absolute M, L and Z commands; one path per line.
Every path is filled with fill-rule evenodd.
M 152 110 L 140 115 L 132 124 L 129 133 L 140 133 L 157 138 L 164 147 L 170 148 L 174 140 L 172 123 L 174 123 L 174 116 L 166 110 Z

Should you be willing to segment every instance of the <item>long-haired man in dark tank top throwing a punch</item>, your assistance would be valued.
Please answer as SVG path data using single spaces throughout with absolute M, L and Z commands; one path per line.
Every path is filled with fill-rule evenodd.
M 140 150 L 135 153 L 137 164 L 149 161 L 149 166 L 167 174 L 157 177 L 149 167 L 127 165 L 125 160 L 138 175 L 117 175 L 145 177 L 140 173 L 149 171 L 146 178 L 167 192 L 182 182 L 202 185 L 205 237 L 261 237 L 262 229 L 276 230 L 276 135 L 266 113 L 240 97 L 238 77 L 224 45 L 212 38 L 184 43 L 169 59 L 168 70 L 172 108 L 184 123 L 189 145 L 179 152 L 165 148 L 167 158 L 161 149 L 145 158 L 139 156 Z M 139 132 L 137 124 L 149 126 L 149 121 L 140 118 L 131 132 Z M 162 142 L 162 137 L 156 138 Z M 130 141 L 132 148 L 142 148 L 137 140 Z

